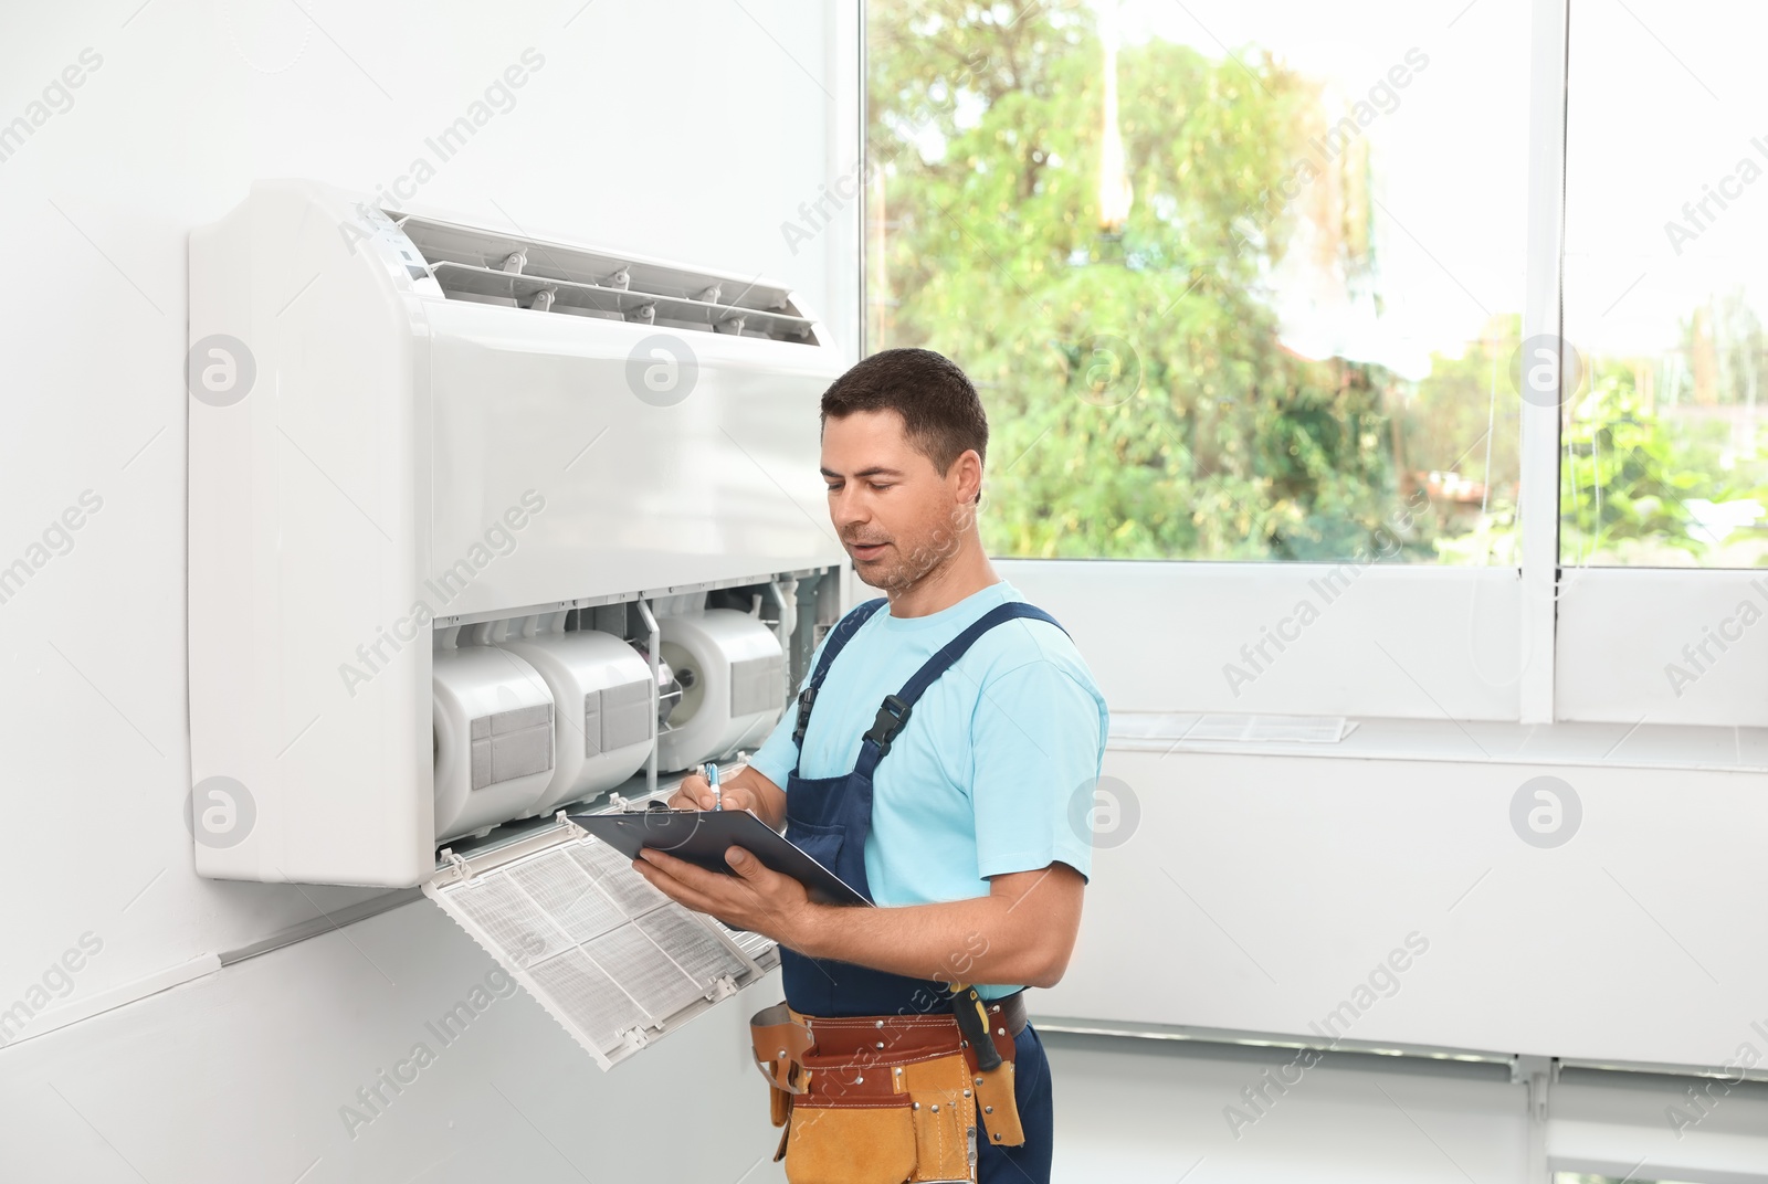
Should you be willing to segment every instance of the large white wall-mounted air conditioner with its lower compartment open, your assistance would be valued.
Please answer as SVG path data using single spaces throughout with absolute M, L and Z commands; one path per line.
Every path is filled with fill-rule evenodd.
M 253 186 L 191 235 L 196 869 L 412 885 L 757 746 L 838 611 L 840 369 L 757 277 Z

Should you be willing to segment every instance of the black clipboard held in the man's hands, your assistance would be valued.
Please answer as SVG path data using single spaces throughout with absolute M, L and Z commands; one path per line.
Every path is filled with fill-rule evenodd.
M 568 816 L 628 859 L 638 859 L 640 848 L 652 846 L 697 868 L 737 875 L 725 862 L 725 848 L 741 846 L 760 859 L 764 868 L 803 884 L 819 903 L 872 903 L 746 809 L 635 809 Z

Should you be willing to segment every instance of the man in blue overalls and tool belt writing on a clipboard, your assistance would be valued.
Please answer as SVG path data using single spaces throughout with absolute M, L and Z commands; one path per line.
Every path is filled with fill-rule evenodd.
M 905 1179 L 884 1163 L 893 1140 L 919 1149 L 902 1152 L 921 1156 L 918 1179 L 948 1179 L 928 1168 L 930 1145 L 948 1142 L 935 1113 L 964 1124 L 951 1127 L 958 1179 L 1050 1175 L 1050 1073 L 1022 991 L 1054 986 L 1073 951 L 1107 714 L 1068 634 L 981 548 L 987 449 L 976 389 L 930 350 L 875 353 L 827 389 L 829 518 L 888 606 L 861 604 L 829 631 L 797 710 L 721 786 L 725 809 L 785 822 L 880 908 L 813 903 L 735 846 L 734 877 L 656 850 L 635 861 L 674 899 L 781 945 L 790 1020 L 774 1018 L 804 1048 L 780 1048 L 774 1080 L 810 1082 L 783 1142 L 794 1180 Z M 713 793 L 691 776 L 670 804 L 709 809 Z M 983 1000 L 1010 1066 L 962 1043 L 956 986 Z M 935 1055 L 953 1066 L 949 1092 L 916 1064 Z M 781 1092 L 776 1124 L 785 1110 Z

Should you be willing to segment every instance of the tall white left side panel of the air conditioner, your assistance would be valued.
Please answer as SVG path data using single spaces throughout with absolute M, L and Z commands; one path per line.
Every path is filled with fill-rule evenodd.
M 424 300 L 392 235 L 341 233 L 364 209 L 265 180 L 191 233 L 193 353 L 251 375 L 187 401 L 207 877 L 407 885 L 433 868 L 428 631 L 389 641 L 428 567 Z

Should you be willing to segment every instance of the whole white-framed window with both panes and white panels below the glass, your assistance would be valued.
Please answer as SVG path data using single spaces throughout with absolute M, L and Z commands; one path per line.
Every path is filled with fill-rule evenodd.
M 1768 11 L 865 11 L 866 348 L 978 380 L 983 541 L 1135 622 L 1119 698 L 1768 723 Z

